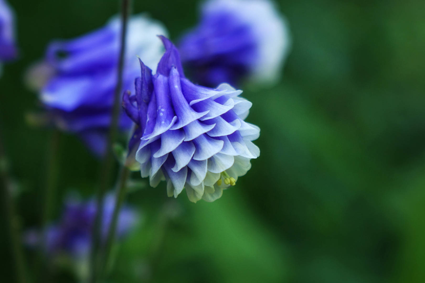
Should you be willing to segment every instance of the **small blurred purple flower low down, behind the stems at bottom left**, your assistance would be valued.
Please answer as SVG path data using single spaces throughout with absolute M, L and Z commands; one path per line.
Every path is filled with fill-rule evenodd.
M 115 196 L 109 193 L 105 197 L 103 210 L 102 236 L 106 239 L 111 224 Z M 68 199 L 62 218 L 58 224 L 52 225 L 47 231 L 46 248 L 50 255 L 65 252 L 74 258 L 85 259 L 91 249 L 91 233 L 96 216 L 96 202 L 90 200 L 81 202 Z M 128 206 L 122 207 L 117 224 L 117 236 L 123 238 L 138 221 L 136 211 Z

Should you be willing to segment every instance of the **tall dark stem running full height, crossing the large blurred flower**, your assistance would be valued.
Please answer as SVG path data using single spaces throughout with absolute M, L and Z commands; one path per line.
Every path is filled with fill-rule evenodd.
M 99 187 L 97 192 L 97 212 L 94 221 L 92 251 L 91 251 L 91 275 L 90 282 L 95 283 L 98 280 L 99 272 L 101 271 L 100 258 L 102 255 L 99 253 L 101 245 L 101 223 L 102 212 L 104 205 L 104 197 L 108 186 L 111 183 L 111 172 L 114 165 L 114 156 L 112 146 L 116 141 L 118 134 L 119 113 L 121 109 L 121 91 L 122 91 L 122 74 L 124 70 L 124 56 L 125 56 L 125 38 L 127 34 L 127 22 L 130 14 L 130 0 L 121 0 L 121 37 L 120 37 L 120 50 L 118 59 L 118 77 L 113 99 L 113 110 L 111 128 L 109 129 L 108 143 L 106 147 L 105 159 L 100 171 Z M 99 264 L 100 263 L 100 264 Z

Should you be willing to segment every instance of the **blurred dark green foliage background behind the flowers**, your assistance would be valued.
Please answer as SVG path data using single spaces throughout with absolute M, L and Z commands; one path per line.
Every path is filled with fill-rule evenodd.
M 40 218 L 51 132 L 25 123 L 39 106 L 23 73 L 51 39 L 98 28 L 119 5 L 9 2 L 20 59 L 0 79 L 0 120 L 28 228 Z M 277 4 L 293 37 L 282 81 L 244 87 L 261 156 L 213 203 L 169 199 L 164 184 L 130 193 L 144 220 L 116 250 L 111 282 L 425 282 L 425 2 Z M 197 6 L 134 0 L 133 12 L 149 12 L 177 39 L 195 25 Z M 62 135 L 56 218 L 69 191 L 93 195 L 98 169 L 79 140 Z M 0 281 L 13 282 L 5 225 L 2 217 Z M 66 270 L 55 276 L 74 282 Z

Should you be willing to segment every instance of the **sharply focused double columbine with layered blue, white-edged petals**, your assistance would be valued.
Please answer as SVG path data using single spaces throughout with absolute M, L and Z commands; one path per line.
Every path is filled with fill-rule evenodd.
M 156 75 L 140 61 L 136 95 L 123 106 L 138 125 L 129 143 L 142 177 L 156 187 L 167 181 L 168 196 L 186 188 L 190 201 L 212 202 L 251 168 L 260 151 L 251 141 L 260 129 L 246 123 L 252 104 L 229 84 L 201 87 L 184 77 L 178 50 L 161 36 L 166 52 Z M 135 106 L 136 104 L 136 106 Z

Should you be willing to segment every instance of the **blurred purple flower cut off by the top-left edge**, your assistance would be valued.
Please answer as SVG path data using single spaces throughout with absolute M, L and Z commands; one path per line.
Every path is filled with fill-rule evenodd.
M 8 3 L 0 0 L 0 59 L 8 61 L 16 56 L 14 14 Z

